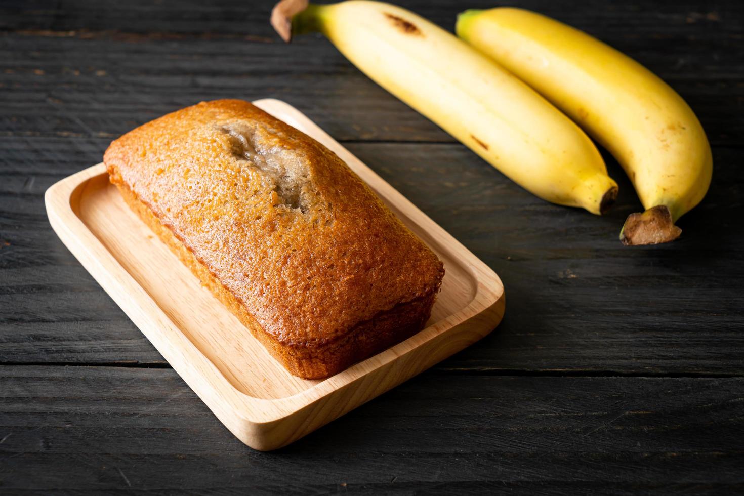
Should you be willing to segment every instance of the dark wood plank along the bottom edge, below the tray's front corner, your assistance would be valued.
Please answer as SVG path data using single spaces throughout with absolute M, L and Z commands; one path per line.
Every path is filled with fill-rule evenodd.
M 5 366 L 0 391 L 4 492 L 744 485 L 744 379 L 426 373 L 274 453 L 234 439 L 172 370 Z

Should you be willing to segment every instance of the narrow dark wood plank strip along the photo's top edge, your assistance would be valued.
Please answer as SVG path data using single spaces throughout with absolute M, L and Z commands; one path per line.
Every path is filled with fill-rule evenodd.
M 398 5 L 414 10 L 433 22 L 451 29 L 455 16 L 465 8 L 490 8 L 492 0 L 472 0 L 467 6 L 457 2 L 400 0 Z M 737 34 L 744 25 L 741 8 L 735 1 L 702 5 L 694 0 L 673 3 L 606 0 L 555 4 L 550 0 L 522 0 L 519 7 L 536 10 L 561 19 L 577 28 L 637 39 L 638 34 L 655 33 L 664 39 L 681 28 L 722 38 Z M 580 5 L 582 8 L 577 8 Z M 3 30 L 46 29 L 91 31 L 119 30 L 130 33 L 172 33 L 181 35 L 266 36 L 278 39 L 266 22 L 272 2 L 249 4 L 240 0 L 202 2 L 198 0 L 132 0 L 127 4 L 97 0 L 4 0 L 0 4 Z M 652 8 L 651 8 L 652 7 Z M 705 8 L 708 7 L 708 8 Z M 629 32 L 628 25 L 632 25 Z

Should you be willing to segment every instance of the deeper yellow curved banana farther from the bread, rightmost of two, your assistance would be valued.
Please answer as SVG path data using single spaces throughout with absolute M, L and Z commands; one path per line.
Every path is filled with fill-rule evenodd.
M 458 36 L 551 100 L 618 159 L 644 213 L 626 245 L 668 242 L 711 184 L 711 146 L 693 111 L 647 68 L 603 42 L 528 10 L 467 10 Z

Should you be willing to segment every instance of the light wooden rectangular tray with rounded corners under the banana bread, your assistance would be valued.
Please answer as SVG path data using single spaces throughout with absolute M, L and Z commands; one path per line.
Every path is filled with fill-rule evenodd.
M 72 254 L 241 441 L 271 450 L 368 402 L 487 335 L 504 314 L 498 276 L 292 106 L 254 102 L 336 152 L 431 246 L 446 275 L 426 329 L 329 379 L 290 375 L 124 204 L 103 164 L 45 194 Z

